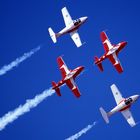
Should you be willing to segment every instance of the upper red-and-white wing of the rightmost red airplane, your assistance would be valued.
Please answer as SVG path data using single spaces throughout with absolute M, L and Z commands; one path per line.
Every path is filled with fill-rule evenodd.
M 105 32 L 101 32 L 100 37 L 104 46 L 104 50 L 107 53 L 110 49 L 113 48 L 113 46 L 111 45 Z

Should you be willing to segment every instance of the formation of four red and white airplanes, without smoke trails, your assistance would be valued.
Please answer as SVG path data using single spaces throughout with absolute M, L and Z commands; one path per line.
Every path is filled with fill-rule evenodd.
M 81 17 L 79 19 L 72 20 L 66 7 L 62 8 L 61 11 L 62 11 L 62 15 L 63 15 L 66 27 L 58 33 L 54 33 L 51 28 L 48 28 L 52 41 L 54 43 L 56 43 L 58 37 L 60 37 L 63 34 L 66 34 L 66 33 L 70 33 L 71 38 L 75 42 L 75 45 L 77 47 L 80 47 L 82 45 L 82 43 L 81 43 L 77 30 L 83 23 L 85 23 L 85 21 L 87 20 L 87 17 Z M 101 37 L 102 44 L 104 46 L 105 53 L 100 58 L 95 56 L 94 63 L 98 66 L 100 71 L 103 71 L 102 61 L 104 61 L 106 58 L 108 58 L 111 61 L 111 63 L 113 64 L 113 66 L 115 67 L 115 69 L 117 70 L 117 72 L 122 73 L 123 68 L 118 59 L 118 54 L 127 45 L 127 42 L 122 41 L 122 42 L 118 43 L 117 45 L 113 45 L 113 44 L 111 44 L 110 40 L 108 39 L 108 36 L 106 35 L 106 33 L 104 31 L 100 33 L 100 37 Z M 60 69 L 60 72 L 62 75 L 62 80 L 60 80 L 58 83 L 55 83 L 53 81 L 52 89 L 54 89 L 56 91 L 56 94 L 58 96 L 61 96 L 60 87 L 64 84 L 66 84 L 70 88 L 70 90 L 73 92 L 73 94 L 77 98 L 79 98 L 81 96 L 81 93 L 75 83 L 75 78 L 83 71 L 84 67 L 79 66 L 79 67 L 75 68 L 74 70 L 69 70 L 61 56 L 57 58 L 57 63 L 58 63 L 58 66 L 59 66 L 59 69 Z M 137 101 L 137 99 L 140 97 L 140 95 L 133 95 L 128 98 L 124 98 L 124 97 L 122 97 L 120 91 L 118 90 L 118 88 L 116 87 L 115 84 L 111 85 L 111 90 L 112 90 L 113 96 L 115 98 L 115 101 L 117 103 L 117 106 L 115 106 L 108 113 L 102 107 L 100 107 L 99 110 L 101 112 L 103 119 L 105 120 L 106 123 L 109 123 L 110 116 L 112 116 L 116 112 L 121 112 L 122 115 L 124 116 L 124 118 L 129 123 L 129 125 L 131 127 L 135 126 L 136 123 L 130 112 L 130 107 L 135 101 Z

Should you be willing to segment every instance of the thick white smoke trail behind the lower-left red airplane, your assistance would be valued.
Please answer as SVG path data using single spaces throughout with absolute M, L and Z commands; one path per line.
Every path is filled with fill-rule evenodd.
M 36 95 L 35 98 L 26 100 L 24 105 L 20 105 L 13 111 L 8 112 L 3 117 L 0 118 L 0 131 L 3 130 L 9 123 L 12 123 L 14 120 L 18 119 L 21 115 L 29 112 L 32 108 L 36 107 L 44 99 L 49 96 L 52 96 L 55 93 L 54 90 L 47 89 L 44 90 L 41 94 Z

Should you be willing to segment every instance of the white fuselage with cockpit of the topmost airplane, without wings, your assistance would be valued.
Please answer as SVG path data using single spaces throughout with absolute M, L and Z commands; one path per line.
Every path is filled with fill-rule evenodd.
M 87 17 L 81 17 L 77 20 L 73 20 L 73 22 L 71 22 L 69 24 L 69 26 L 66 26 L 65 28 L 63 28 L 58 34 L 63 35 L 66 33 L 71 33 L 75 30 L 77 30 L 85 21 L 87 20 Z

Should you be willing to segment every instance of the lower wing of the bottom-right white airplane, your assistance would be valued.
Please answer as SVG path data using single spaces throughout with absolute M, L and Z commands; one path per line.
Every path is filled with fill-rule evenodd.
M 134 118 L 133 118 L 133 116 L 132 116 L 132 114 L 131 114 L 131 112 L 130 112 L 129 109 L 124 110 L 124 111 L 122 111 L 121 113 L 122 113 L 122 115 L 124 116 L 124 118 L 127 120 L 127 122 L 129 123 L 129 125 L 130 125 L 131 127 L 133 127 L 133 126 L 136 125 L 136 123 L 135 123 L 135 121 L 134 121 Z

